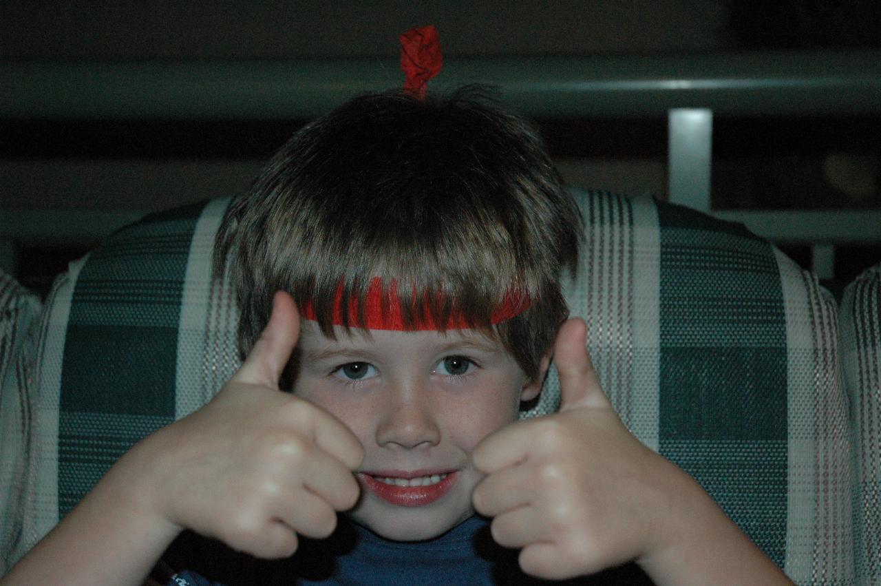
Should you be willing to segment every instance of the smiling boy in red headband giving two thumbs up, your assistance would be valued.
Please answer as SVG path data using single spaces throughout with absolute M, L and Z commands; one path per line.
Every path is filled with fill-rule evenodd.
M 185 529 L 293 554 L 271 567 L 289 583 L 520 580 L 499 545 L 540 578 L 635 560 L 659 584 L 788 583 L 612 411 L 560 293 L 580 235 L 536 134 L 479 97 L 365 96 L 307 125 L 218 234 L 241 369 L 4 583 L 139 583 Z M 561 411 L 515 422 L 552 357 Z

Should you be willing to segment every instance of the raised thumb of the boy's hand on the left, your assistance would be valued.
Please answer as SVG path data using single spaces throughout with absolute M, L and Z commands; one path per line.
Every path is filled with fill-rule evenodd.
M 277 291 L 272 298 L 270 321 L 233 379 L 278 388 L 278 379 L 299 338 L 300 312 L 290 294 Z

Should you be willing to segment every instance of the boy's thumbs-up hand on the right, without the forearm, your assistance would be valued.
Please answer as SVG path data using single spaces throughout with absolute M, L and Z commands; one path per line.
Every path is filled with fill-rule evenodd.
M 593 574 L 657 553 L 674 538 L 667 531 L 675 531 L 692 492 L 684 472 L 618 419 L 590 362 L 586 331 L 571 319 L 554 345 L 559 413 L 503 427 L 472 455 L 487 475 L 474 507 L 495 517 L 496 542 L 522 548 L 523 571 L 542 578 Z

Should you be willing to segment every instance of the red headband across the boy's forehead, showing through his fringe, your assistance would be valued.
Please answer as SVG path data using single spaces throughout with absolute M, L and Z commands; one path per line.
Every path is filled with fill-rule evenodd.
M 522 314 L 530 305 L 531 302 L 527 295 L 507 293 L 499 307 L 492 310 L 490 323 L 495 325 L 509 320 L 516 315 Z M 307 320 L 317 321 L 318 319 L 311 301 L 303 304 L 300 313 Z M 347 322 L 352 328 L 396 331 L 465 330 L 472 327 L 466 317 L 456 312 L 455 308 L 450 313 L 447 323 L 443 328 L 438 323 L 435 323 L 431 312 L 414 311 L 413 314 L 416 315 L 415 323 L 408 326 L 403 320 L 403 308 L 400 297 L 397 294 L 396 281 L 391 282 L 388 291 L 383 295 L 382 279 L 375 277 L 370 282 L 370 286 L 367 287 L 363 315 L 359 316 L 358 300 L 352 298 L 349 300 L 349 308 L 345 314 L 348 320 L 344 320 L 343 284 L 341 283 L 337 286 L 337 295 L 334 300 L 333 315 L 330 316 L 330 323 L 333 325 L 343 325 Z

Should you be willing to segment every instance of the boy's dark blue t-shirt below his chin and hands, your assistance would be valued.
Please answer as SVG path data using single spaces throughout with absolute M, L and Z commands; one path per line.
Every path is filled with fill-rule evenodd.
M 222 564 L 226 567 L 211 567 L 208 572 L 196 568 L 183 570 L 167 582 L 168 586 L 544 583 L 523 575 L 517 565 L 518 552 L 497 545 L 488 523 L 477 516 L 439 538 L 411 543 L 389 541 L 341 517 L 333 536 L 323 540 L 302 539 L 297 553 L 288 560 L 263 561 L 239 556 L 239 561 L 234 561 L 237 554 L 226 552 Z M 603 575 L 552 583 L 651 583 L 632 564 Z

